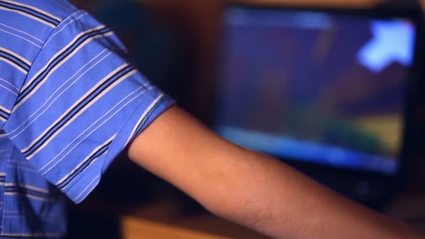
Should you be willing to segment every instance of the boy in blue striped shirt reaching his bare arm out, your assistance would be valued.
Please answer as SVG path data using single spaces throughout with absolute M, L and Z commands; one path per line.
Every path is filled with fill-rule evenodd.
M 64 0 L 0 0 L 3 238 L 64 236 L 82 201 L 129 158 L 211 212 L 275 238 L 420 238 L 284 164 L 233 145 L 150 84 L 110 29 Z

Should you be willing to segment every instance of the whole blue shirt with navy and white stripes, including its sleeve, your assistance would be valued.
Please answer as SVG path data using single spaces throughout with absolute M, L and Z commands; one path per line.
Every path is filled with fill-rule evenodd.
M 173 101 L 108 27 L 65 0 L 0 0 L 0 236 L 55 238 Z

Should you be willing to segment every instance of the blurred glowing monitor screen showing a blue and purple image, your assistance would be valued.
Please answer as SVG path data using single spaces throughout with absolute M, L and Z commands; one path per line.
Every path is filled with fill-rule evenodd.
M 223 30 L 215 131 L 282 159 L 397 171 L 415 24 L 231 6 Z

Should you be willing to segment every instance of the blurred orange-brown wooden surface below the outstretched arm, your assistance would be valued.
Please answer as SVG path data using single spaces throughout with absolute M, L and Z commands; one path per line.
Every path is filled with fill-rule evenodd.
M 207 211 L 187 213 L 172 201 L 140 205 L 121 217 L 124 239 L 133 238 L 243 238 L 266 239 L 244 226 Z M 175 236 L 174 236 L 175 235 Z

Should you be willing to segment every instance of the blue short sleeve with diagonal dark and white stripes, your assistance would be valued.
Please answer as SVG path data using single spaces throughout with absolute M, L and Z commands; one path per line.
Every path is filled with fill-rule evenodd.
M 75 203 L 173 104 L 126 55 L 108 27 L 72 13 L 45 41 L 3 126 L 35 170 Z

